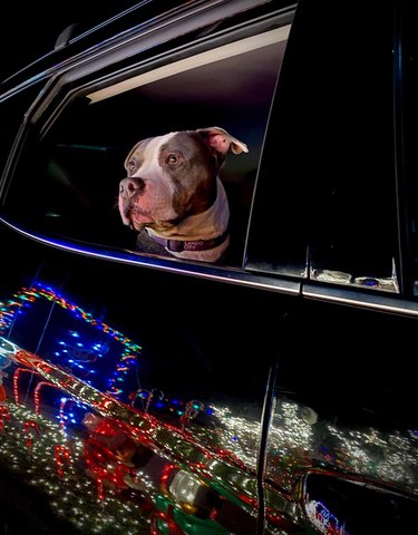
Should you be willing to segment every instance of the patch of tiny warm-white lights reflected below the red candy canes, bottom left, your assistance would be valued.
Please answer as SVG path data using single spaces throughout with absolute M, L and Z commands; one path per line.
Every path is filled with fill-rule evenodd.
M 32 414 L 22 406 L 13 405 L 10 410 L 14 421 L 25 421 Z M 79 471 L 79 468 L 76 470 L 76 466 L 84 466 L 84 449 L 79 439 L 71 441 L 74 460 L 70 458 L 69 464 L 65 464 L 62 477 L 58 475 L 56 467 L 50 469 L 50 450 L 52 448 L 55 453 L 54 444 L 61 444 L 61 432 L 57 424 L 41 416 L 38 420 L 45 431 L 33 442 L 30 456 L 21 441 L 22 426 L 11 427 L 10 437 L 0 441 L 0 457 L 7 461 L 9 468 L 18 470 L 20 475 L 26 473 L 31 476 L 31 481 L 28 483 L 52 497 L 49 503 L 54 512 L 79 527 L 82 533 L 147 533 L 147 521 L 138 512 L 138 503 L 121 502 L 117 493 L 109 488 L 104 500 L 98 504 L 95 483 Z

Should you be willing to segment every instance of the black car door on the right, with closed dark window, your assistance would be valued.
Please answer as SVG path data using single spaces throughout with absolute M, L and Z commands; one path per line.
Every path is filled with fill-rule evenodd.
M 407 2 L 378 28 L 373 8 L 299 2 L 257 176 L 246 266 L 302 280 L 271 376 L 278 527 L 278 486 L 318 533 L 402 533 L 416 515 L 416 45 Z

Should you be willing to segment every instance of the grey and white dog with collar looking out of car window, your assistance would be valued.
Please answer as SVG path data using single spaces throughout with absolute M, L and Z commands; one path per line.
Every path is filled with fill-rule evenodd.
M 223 128 L 172 132 L 138 142 L 119 183 L 121 221 L 144 253 L 217 262 L 230 245 L 230 206 L 220 169 L 226 154 L 247 153 Z

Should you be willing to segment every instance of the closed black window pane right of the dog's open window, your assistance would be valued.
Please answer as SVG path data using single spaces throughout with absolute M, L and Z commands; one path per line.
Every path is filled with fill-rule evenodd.
M 379 25 L 371 6 L 358 8 L 305 2 L 297 12 L 256 185 L 247 266 L 398 291 L 392 7 L 379 10 Z

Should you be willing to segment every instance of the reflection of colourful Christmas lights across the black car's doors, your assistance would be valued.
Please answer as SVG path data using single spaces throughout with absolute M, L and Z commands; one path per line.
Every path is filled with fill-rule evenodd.
M 48 359 L 14 343 L 11 328 L 18 313 L 33 313 L 37 303 L 45 302 L 65 312 L 52 331 L 60 351 L 51 351 L 46 342 Z M 152 533 L 197 528 L 198 533 L 255 533 L 260 432 L 255 410 L 240 409 L 231 400 L 177 400 L 158 388 L 129 391 L 137 376 L 139 344 L 50 286 L 21 289 L 1 310 L 1 332 L 8 331 L 10 338 L 0 337 L 0 454 L 54 496 L 60 515 L 86 529 L 93 522 L 91 508 L 101 504 L 106 514 L 94 521 L 99 533 L 113 523 L 119 527 L 126 523 L 126 533 L 148 524 Z M 76 344 L 57 338 L 62 332 Z M 114 370 L 107 382 L 99 377 L 104 351 L 107 369 Z M 80 364 L 86 362 L 88 370 Z M 105 383 L 110 388 L 103 391 Z M 125 391 L 115 385 L 130 388 Z M 363 488 L 371 488 L 373 495 L 402 505 L 408 515 L 416 510 L 417 503 L 401 494 L 406 483 L 410 496 L 418 492 L 417 436 L 410 430 L 344 427 L 283 395 L 276 397 L 269 441 L 269 533 L 300 533 L 303 525 L 324 534 L 366 533 L 367 523 L 357 523 L 351 531 L 352 508 L 336 505 L 331 492 L 319 499 L 332 485 L 348 486 L 351 504 L 361 504 Z M 386 509 L 388 518 L 395 509 Z

